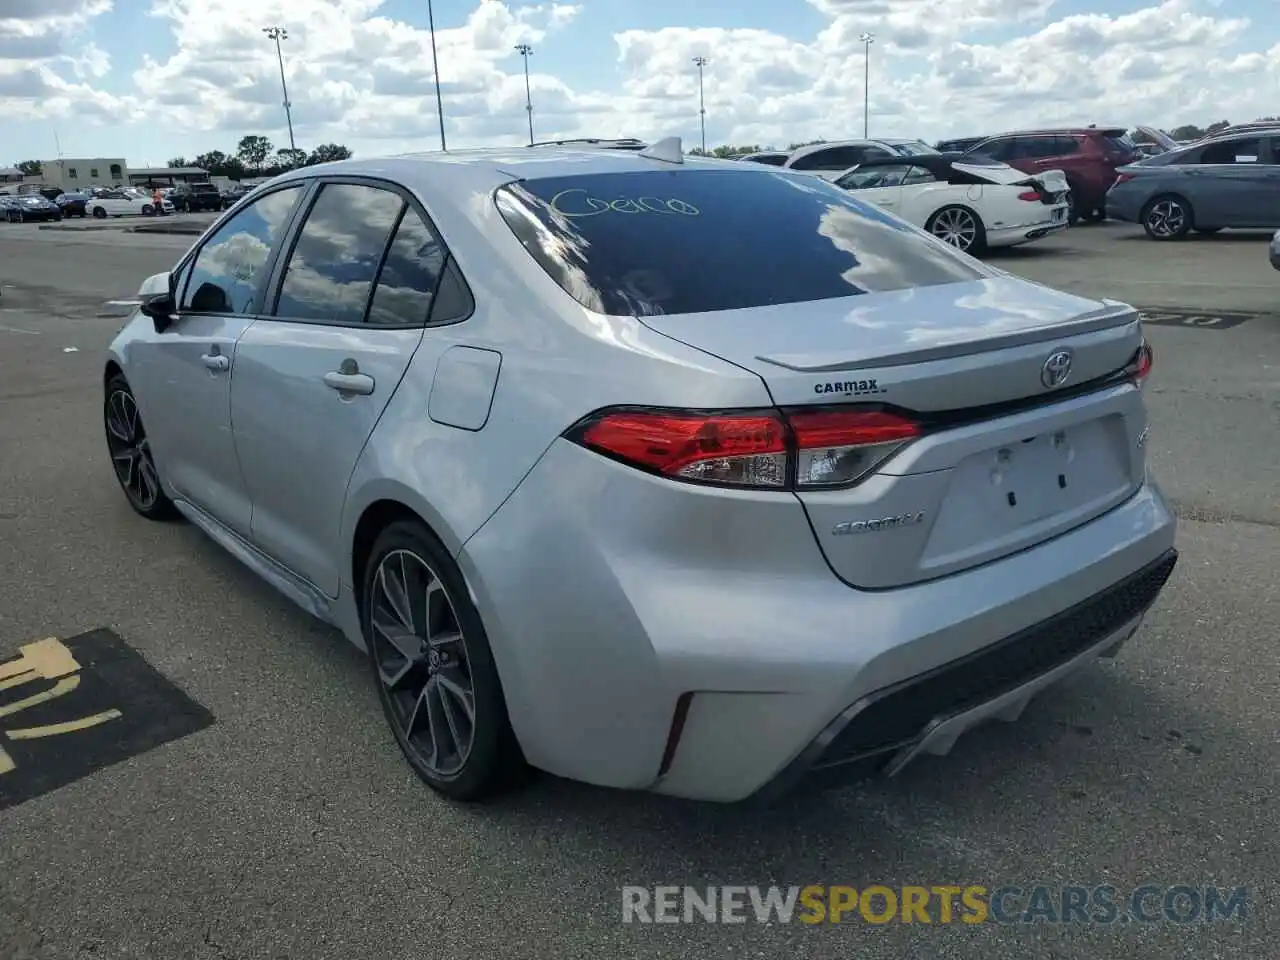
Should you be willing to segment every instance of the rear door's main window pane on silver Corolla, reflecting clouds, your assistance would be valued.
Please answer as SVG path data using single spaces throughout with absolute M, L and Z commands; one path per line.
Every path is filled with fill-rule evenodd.
M 298 230 L 275 316 L 360 324 L 404 201 L 356 183 L 326 183 Z

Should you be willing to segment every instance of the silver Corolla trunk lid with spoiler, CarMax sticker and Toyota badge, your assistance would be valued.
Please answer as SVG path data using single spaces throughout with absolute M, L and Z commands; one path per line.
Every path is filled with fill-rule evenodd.
M 797 493 L 832 570 L 854 586 L 1027 549 L 1144 479 L 1144 408 L 1129 380 L 1112 379 L 1142 344 L 1121 303 L 993 278 L 640 320 L 756 372 L 783 410 L 858 404 L 919 425 L 856 485 Z

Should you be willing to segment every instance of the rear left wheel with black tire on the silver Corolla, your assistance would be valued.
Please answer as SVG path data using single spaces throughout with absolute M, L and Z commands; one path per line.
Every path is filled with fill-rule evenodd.
M 361 626 L 383 713 L 413 772 L 477 801 L 526 771 L 480 613 L 457 564 L 417 521 L 397 521 L 364 571 Z

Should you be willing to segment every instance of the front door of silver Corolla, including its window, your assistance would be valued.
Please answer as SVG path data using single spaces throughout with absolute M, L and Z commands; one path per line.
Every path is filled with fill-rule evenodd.
M 131 364 L 160 475 L 179 498 L 246 538 L 251 509 L 230 422 L 236 348 L 301 193 L 301 186 L 269 193 L 209 237 L 178 274 L 178 319 L 137 343 Z

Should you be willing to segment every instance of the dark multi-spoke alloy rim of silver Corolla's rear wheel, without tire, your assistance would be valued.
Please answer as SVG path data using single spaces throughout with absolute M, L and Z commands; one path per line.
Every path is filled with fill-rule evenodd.
M 462 625 L 430 564 L 407 549 L 372 577 L 370 654 L 406 749 L 433 774 L 457 776 L 475 742 L 475 686 Z

